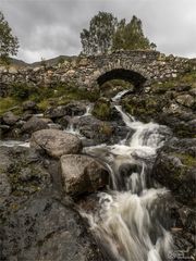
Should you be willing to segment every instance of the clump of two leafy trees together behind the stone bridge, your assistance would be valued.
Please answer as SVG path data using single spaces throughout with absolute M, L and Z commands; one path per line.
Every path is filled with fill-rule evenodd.
M 84 54 L 107 53 L 110 50 L 146 50 L 155 49 L 143 33 L 143 24 L 135 15 L 126 24 L 125 18 L 118 22 L 111 13 L 99 12 L 89 25 L 89 30 L 83 29 L 81 41 Z

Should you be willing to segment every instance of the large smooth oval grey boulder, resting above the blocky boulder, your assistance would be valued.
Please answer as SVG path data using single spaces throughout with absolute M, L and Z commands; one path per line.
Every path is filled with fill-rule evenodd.
M 60 129 L 41 129 L 32 135 L 30 147 L 60 158 L 63 154 L 79 153 L 82 142 L 75 135 Z

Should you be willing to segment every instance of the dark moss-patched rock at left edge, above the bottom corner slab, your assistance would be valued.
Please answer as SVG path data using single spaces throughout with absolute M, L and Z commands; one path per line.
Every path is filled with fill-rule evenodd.
M 32 195 L 51 185 L 40 156 L 24 147 L 0 147 L 0 223 Z

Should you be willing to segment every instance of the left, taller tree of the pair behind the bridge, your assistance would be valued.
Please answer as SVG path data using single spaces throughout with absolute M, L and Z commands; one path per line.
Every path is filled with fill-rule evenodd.
M 89 25 L 89 30 L 83 29 L 81 42 L 84 54 L 107 53 L 112 47 L 117 18 L 107 12 L 95 15 Z

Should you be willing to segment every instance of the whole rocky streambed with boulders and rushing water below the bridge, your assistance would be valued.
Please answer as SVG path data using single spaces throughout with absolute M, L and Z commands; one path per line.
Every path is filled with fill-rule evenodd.
M 1 260 L 194 260 L 196 138 L 135 120 L 124 95 L 109 120 L 107 99 L 3 115 Z

